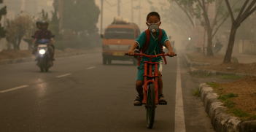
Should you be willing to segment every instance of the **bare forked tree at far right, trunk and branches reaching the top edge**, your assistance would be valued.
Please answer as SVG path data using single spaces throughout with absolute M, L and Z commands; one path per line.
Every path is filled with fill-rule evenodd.
M 233 51 L 233 45 L 235 42 L 236 31 L 239 28 L 239 26 L 241 26 L 241 23 L 243 23 L 244 20 L 246 20 L 249 17 L 249 15 L 252 14 L 252 12 L 255 12 L 255 9 L 256 9 L 255 2 L 256 2 L 256 0 L 252 0 L 251 4 L 249 4 L 247 6 L 247 4 L 249 3 L 249 0 L 244 1 L 243 7 L 241 7 L 240 12 L 238 13 L 237 18 L 235 19 L 232 9 L 230 7 L 229 1 L 225 0 L 225 3 L 228 7 L 228 12 L 230 14 L 232 26 L 231 26 L 230 37 L 229 37 L 229 41 L 228 41 L 228 48 L 227 48 L 223 63 L 231 62 L 231 55 L 232 55 L 232 51 Z

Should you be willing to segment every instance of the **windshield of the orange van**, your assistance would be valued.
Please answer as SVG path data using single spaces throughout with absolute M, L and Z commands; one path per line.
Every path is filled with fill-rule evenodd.
M 132 28 L 107 28 L 104 39 L 134 39 Z

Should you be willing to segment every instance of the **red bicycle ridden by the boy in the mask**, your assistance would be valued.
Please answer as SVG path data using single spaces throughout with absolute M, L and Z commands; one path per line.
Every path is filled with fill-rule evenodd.
M 125 55 L 128 55 L 126 53 Z M 150 61 L 144 61 L 144 98 L 143 104 L 147 109 L 147 128 L 152 128 L 155 120 L 155 107 L 158 105 L 158 62 L 152 62 L 152 58 L 158 56 L 168 56 L 168 54 L 159 55 L 145 55 L 141 53 L 135 53 L 134 55 L 145 56 L 150 58 Z M 176 56 L 177 54 L 175 54 Z M 155 73 L 152 72 L 152 67 L 155 65 Z M 149 72 L 147 74 L 147 67 L 149 66 Z

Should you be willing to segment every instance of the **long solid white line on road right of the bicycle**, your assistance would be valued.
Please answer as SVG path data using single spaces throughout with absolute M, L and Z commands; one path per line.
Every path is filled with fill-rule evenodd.
M 175 104 L 175 132 L 185 132 L 185 117 L 182 98 L 182 77 L 177 58 L 177 82 L 176 82 L 176 104 Z

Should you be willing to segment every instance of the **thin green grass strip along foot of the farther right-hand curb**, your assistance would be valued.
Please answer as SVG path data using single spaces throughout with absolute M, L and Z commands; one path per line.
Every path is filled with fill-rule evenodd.
M 196 78 L 205 78 L 205 77 L 216 77 L 216 78 L 220 78 L 220 79 L 243 79 L 244 77 L 238 76 L 238 75 L 214 75 L 214 74 L 192 74 L 190 73 L 190 75 L 192 75 L 193 77 Z

